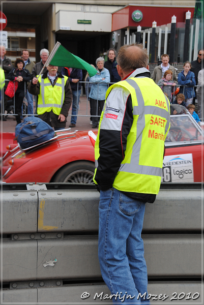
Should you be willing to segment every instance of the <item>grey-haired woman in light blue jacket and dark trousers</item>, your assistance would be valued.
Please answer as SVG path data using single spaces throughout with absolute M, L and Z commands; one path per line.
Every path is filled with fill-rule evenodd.
M 107 69 L 104 68 L 103 57 L 99 57 L 96 59 L 96 70 L 97 74 L 90 78 L 90 82 L 93 83 L 89 95 L 92 104 L 92 128 L 98 127 L 99 118 L 95 115 L 97 115 L 98 109 L 98 115 L 101 116 L 101 112 L 105 102 L 106 90 L 108 88 L 107 83 L 110 82 L 110 73 Z

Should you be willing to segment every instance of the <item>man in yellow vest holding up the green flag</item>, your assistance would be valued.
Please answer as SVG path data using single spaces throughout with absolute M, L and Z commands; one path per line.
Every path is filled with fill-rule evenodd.
M 67 76 L 49 65 L 42 75 L 34 77 L 28 91 L 38 96 L 38 117 L 54 130 L 65 129 L 68 111 L 72 103 L 72 90 Z

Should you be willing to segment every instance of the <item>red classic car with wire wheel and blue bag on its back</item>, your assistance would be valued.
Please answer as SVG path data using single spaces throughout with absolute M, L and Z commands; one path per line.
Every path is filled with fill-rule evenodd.
M 180 111 L 182 106 L 177 106 L 171 106 L 171 113 Z M 201 128 L 182 109 L 182 113 L 171 115 L 162 182 L 202 181 Z M 3 157 L 3 182 L 93 183 L 94 147 L 88 131 L 60 131 L 53 139 L 27 149 L 20 149 L 12 139 L 8 141 L 12 144 Z

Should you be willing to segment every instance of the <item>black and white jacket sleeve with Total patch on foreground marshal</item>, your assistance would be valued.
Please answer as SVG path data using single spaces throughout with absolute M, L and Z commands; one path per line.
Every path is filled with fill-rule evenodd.
M 102 191 L 112 187 L 121 162 L 124 160 L 127 136 L 133 124 L 131 96 L 129 95 L 126 99 L 121 100 L 119 97 L 116 103 L 112 97 L 113 95 L 110 92 L 106 100 L 103 117 L 106 122 L 103 123 L 102 120 L 99 134 L 100 157 L 95 180 L 98 188 Z M 111 115 L 113 115 L 113 118 L 111 118 Z

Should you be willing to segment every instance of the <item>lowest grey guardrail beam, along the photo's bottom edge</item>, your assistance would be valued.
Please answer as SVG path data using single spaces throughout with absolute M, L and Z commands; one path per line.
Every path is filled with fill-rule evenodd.
M 39 281 L 38 281 L 39 282 Z M 58 281 L 60 282 L 60 281 Z M 34 285 L 35 281 L 31 282 Z M 47 284 L 45 281 L 41 282 L 44 286 Z M 15 283 L 14 283 L 15 284 Z M 29 285 L 27 288 L 30 288 Z M 86 293 L 85 293 L 86 292 Z M 164 292 L 164 293 L 163 293 Z M 165 282 L 148 282 L 148 293 L 151 303 L 168 303 L 171 302 L 179 304 L 202 304 L 202 286 L 197 281 L 186 281 L 182 283 L 180 281 L 165 281 Z M 87 284 L 63 284 L 63 287 L 54 285 L 50 287 L 39 287 L 33 289 L 8 289 L 3 290 L 3 301 L 28 303 L 32 302 L 37 305 L 38 303 L 47 304 L 99 304 L 108 303 L 111 304 L 110 291 L 107 286 L 100 282 L 90 282 Z M 146 296 L 147 297 L 147 296 Z M 159 298 L 160 297 L 160 298 Z M 82 299 L 83 298 L 83 299 Z

